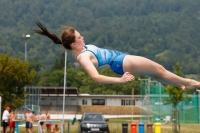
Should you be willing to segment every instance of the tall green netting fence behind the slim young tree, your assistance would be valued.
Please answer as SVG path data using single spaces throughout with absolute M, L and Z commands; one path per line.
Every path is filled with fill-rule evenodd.
M 147 122 L 166 122 L 172 118 L 172 104 L 165 104 L 164 98 L 169 97 L 159 82 L 146 80 L 141 83 L 142 115 L 150 116 L 142 118 Z M 188 95 L 192 100 L 183 101 L 178 104 L 180 123 L 200 122 L 198 93 Z M 172 121 L 172 120 L 170 120 Z

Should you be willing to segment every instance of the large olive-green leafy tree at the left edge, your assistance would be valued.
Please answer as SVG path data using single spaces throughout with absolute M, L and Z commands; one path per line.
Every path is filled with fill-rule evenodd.
M 29 63 L 19 58 L 11 58 L 8 54 L 0 54 L 0 96 L 2 107 L 15 109 L 23 105 L 28 94 L 24 86 L 32 85 L 36 72 L 29 71 Z

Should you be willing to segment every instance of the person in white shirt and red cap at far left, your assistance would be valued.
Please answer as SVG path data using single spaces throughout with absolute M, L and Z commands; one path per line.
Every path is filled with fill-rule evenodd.
M 6 106 L 2 115 L 3 133 L 7 133 L 10 107 Z

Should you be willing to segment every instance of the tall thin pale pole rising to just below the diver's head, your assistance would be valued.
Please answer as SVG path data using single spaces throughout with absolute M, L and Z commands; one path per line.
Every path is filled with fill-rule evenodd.
M 64 69 L 64 90 L 63 90 L 63 119 L 62 119 L 62 133 L 64 133 L 64 128 L 65 128 L 65 89 L 66 89 L 66 81 L 67 81 L 67 50 L 65 50 L 65 69 Z

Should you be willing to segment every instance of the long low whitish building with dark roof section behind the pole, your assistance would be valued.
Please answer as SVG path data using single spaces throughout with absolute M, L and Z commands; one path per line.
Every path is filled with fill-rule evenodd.
M 40 106 L 63 105 L 63 87 L 38 87 L 41 90 Z M 79 94 L 76 87 L 67 87 L 65 105 L 141 106 L 141 96 Z

